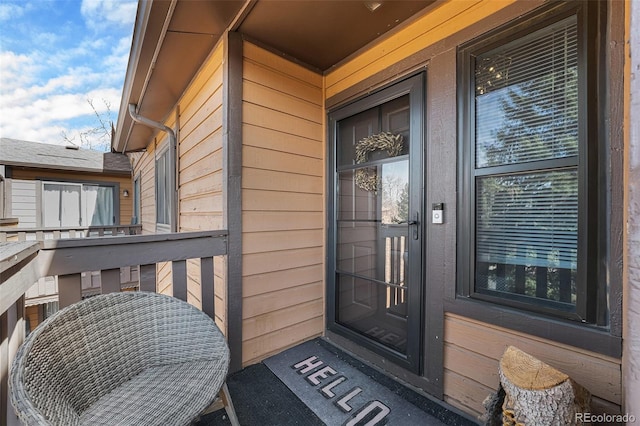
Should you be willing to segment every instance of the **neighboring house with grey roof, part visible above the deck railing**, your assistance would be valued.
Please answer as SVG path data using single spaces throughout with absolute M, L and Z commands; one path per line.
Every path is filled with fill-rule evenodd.
M 134 216 L 122 154 L 1 138 L 0 165 L 4 217 L 17 218 L 18 228 L 120 225 Z

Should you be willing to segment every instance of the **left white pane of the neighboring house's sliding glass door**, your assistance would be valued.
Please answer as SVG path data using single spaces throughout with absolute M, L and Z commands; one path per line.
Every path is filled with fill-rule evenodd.
M 42 197 L 45 227 L 64 228 L 81 225 L 80 185 L 44 183 Z

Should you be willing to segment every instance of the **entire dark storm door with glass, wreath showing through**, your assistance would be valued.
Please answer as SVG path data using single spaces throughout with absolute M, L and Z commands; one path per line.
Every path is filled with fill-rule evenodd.
M 333 111 L 328 327 L 419 372 L 424 75 Z

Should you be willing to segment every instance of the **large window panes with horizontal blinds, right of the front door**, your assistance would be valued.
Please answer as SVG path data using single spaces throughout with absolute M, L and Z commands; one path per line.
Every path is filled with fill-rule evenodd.
M 476 291 L 569 310 L 578 252 L 576 27 L 570 17 L 478 55 L 474 67 Z

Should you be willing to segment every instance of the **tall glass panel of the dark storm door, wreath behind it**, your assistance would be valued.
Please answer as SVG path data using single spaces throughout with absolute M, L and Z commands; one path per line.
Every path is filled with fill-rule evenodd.
M 406 354 L 409 96 L 337 131 L 336 321 Z

